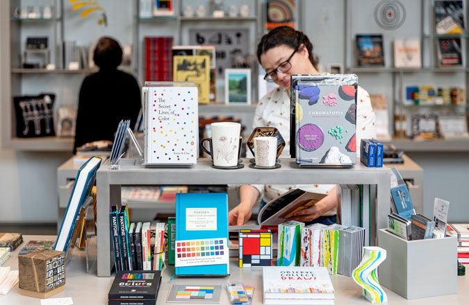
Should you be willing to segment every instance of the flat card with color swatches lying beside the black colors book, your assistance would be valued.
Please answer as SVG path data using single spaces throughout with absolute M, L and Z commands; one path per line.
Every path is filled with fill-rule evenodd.
M 167 303 L 220 303 L 220 285 L 171 285 Z

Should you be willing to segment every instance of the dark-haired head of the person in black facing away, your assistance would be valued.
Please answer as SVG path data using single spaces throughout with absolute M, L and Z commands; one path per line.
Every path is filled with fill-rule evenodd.
M 110 37 L 101 37 L 94 49 L 93 60 L 101 69 L 117 68 L 122 62 L 122 48 L 119 42 Z

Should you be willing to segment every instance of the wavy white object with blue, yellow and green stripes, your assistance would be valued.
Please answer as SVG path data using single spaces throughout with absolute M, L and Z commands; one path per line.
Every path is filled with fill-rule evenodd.
M 360 265 L 352 272 L 356 284 L 363 288 L 363 296 L 372 303 L 386 303 L 388 297 L 379 286 L 378 266 L 386 259 L 386 250 L 380 247 L 363 247 Z

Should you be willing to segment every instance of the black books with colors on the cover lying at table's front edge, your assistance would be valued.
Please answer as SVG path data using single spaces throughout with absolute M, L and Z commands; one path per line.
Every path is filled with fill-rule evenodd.
M 118 271 L 108 293 L 109 305 L 155 304 L 161 271 Z

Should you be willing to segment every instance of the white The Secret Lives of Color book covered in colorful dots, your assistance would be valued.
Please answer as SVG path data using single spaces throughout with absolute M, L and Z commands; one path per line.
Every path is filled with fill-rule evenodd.
M 197 164 L 198 98 L 194 82 L 145 82 L 145 165 Z

